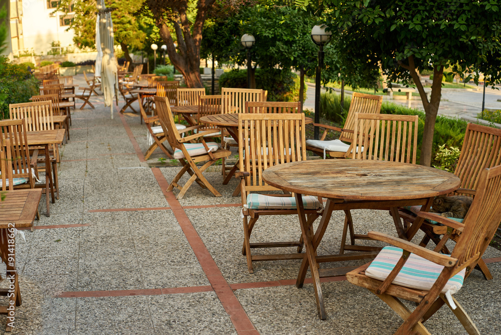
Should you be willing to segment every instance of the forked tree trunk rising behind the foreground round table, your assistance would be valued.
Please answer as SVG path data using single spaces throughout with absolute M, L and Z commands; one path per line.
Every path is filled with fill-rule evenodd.
M 421 144 L 421 156 L 419 158 L 419 164 L 424 166 L 431 165 L 431 152 L 433 149 L 433 134 L 435 132 L 435 121 L 437 118 L 438 107 L 440 106 L 440 98 L 442 96 L 442 77 L 443 77 L 443 65 L 435 65 L 433 67 L 433 83 L 431 84 L 431 95 L 430 101 L 426 97 L 426 92 L 424 91 L 423 84 L 419 78 L 419 74 L 416 71 L 414 65 L 414 58 L 410 56 L 409 65 L 400 63 L 404 68 L 410 71 L 412 79 L 416 84 L 417 90 L 423 102 L 424 112 L 426 114 L 424 118 L 424 129 L 423 129 L 423 142 Z

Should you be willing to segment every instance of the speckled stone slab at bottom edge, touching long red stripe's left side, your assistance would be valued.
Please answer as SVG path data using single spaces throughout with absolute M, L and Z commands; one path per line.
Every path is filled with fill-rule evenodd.
M 149 295 L 147 300 L 158 334 L 236 334 L 214 292 Z

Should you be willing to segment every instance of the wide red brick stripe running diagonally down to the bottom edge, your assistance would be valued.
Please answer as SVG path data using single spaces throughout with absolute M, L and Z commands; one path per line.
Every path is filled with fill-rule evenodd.
M 179 203 L 179 201 L 177 201 L 174 193 L 166 191 L 169 183 L 163 176 L 162 172 L 158 167 L 152 167 L 151 171 L 153 172 L 158 185 L 162 189 L 162 192 L 165 195 L 168 204 L 172 208 L 172 212 L 174 213 L 177 222 L 181 226 L 186 239 L 193 249 L 193 252 L 197 257 L 198 262 L 203 269 L 203 272 L 207 276 L 210 285 L 214 289 L 214 292 L 217 294 L 219 301 L 221 301 L 224 310 L 226 311 L 226 313 L 228 313 L 237 333 L 247 330 L 257 331 L 254 327 L 254 324 L 252 323 L 252 321 L 250 321 L 250 318 L 243 309 L 242 305 L 236 298 L 234 292 L 231 290 L 230 285 L 228 284 L 226 279 L 224 279 L 224 276 L 222 275 L 221 271 L 217 267 L 217 264 L 210 255 L 209 250 L 207 250 L 205 244 L 203 244 L 202 239 L 191 224 L 188 215 L 186 215 L 186 212 L 181 207 L 181 204 Z

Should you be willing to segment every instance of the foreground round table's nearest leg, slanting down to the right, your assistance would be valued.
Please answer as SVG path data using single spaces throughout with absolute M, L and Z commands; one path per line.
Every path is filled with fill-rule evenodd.
M 315 298 L 317 300 L 318 315 L 320 319 L 325 320 L 327 318 L 327 314 L 325 313 L 324 295 L 322 294 L 322 287 L 320 285 L 320 275 L 318 272 L 319 266 L 316 259 L 317 252 L 314 248 L 314 236 L 306 218 L 302 195 L 299 193 L 296 193 L 296 203 L 298 207 L 299 223 L 301 225 L 301 232 L 303 234 L 306 250 L 306 256 L 303 258 L 303 262 L 305 262 L 306 257 L 308 257 L 308 263 L 310 264 L 310 270 L 312 273 L 313 288 L 315 290 Z M 324 217 L 322 217 L 322 220 L 324 220 Z

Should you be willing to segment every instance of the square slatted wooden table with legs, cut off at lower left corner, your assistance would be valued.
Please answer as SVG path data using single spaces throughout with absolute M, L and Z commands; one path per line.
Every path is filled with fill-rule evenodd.
M 0 306 L 0 313 L 7 314 L 6 331 L 12 331 L 13 324 L 15 324 L 16 306 L 20 306 L 22 303 L 16 269 L 14 229 L 32 226 L 42 196 L 42 189 L 2 191 L 2 195 L 5 197 L 0 201 L 0 256 L 7 266 L 7 280 L 14 289 L 12 286 L 0 289 L 0 295 L 9 296 L 9 304 Z

